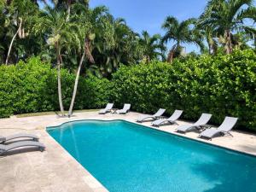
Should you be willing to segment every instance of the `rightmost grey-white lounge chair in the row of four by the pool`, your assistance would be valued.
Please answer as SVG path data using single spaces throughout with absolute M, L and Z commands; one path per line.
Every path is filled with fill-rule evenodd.
M 238 118 L 226 117 L 223 123 L 218 128 L 210 128 L 210 129 L 207 129 L 206 131 L 202 131 L 199 137 L 204 137 L 210 140 L 212 140 L 212 137 L 215 137 L 217 135 L 219 136 L 229 135 L 233 137 L 230 133 L 230 130 L 236 125 L 237 120 Z

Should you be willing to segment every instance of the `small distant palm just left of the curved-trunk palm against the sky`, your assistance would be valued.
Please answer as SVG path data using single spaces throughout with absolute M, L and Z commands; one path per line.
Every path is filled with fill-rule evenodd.
M 165 46 L 161 44 L 160 34 L 154 34 L 152 37 L 148 32 L 143 31 L 142 37 L 139 39 L 139 44 L 143 49 L 143 57 L 146 63 L 153 59 L 157 59 L 159 56 L 163 56 L 163 52 L 166 50 Z

